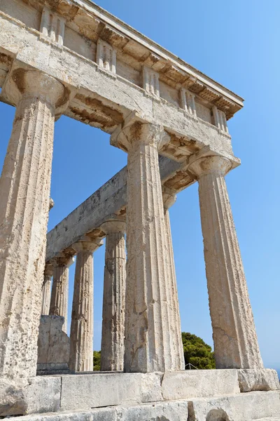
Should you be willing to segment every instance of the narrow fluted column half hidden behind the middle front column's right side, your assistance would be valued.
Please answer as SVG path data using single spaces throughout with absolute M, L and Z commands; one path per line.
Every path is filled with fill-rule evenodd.
M 169 208 L 173 206 L 176 201 L 176 192 L 172 191 L 172 189 L 168 189 L 167 187 L 162 187 L 162 200 L 165 213 L 165 232 L 167 238 L 167 269 L 169 280 L 169 287 L 167 288 L 167 293 L 169 293 L 168 300 L 172 305 L 172 312 L 170 314 L 170 333 L 172 335 L 172 347 L 174 349 L 174 363 L 176 370 L 185 370 L 174 252 L 169 219 Z

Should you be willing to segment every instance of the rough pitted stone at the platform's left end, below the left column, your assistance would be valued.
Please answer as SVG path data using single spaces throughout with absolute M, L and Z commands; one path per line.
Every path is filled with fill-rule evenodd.
M 22 385 L 0 379 L 0 416 L 56 412 L 60 404 L 60 377 L 31 377 Z

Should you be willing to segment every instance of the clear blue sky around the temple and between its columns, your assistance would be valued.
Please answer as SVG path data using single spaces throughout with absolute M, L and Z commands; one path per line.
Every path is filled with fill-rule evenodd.
M 226 178 L 265 366 L 280 368 L 279 39 L 277 0 L 99 0 L 118 18 L 245 98 L 229 121 L 242 165 Z M 14 109 L 0 104 L 0 168 Z M 49 229 L 126 165 L 109 135 L 55 124 Z M 213 344 L 197 185 L 170 210 L 182 330 Z M 100 349 L 104 247 L 94 253 L 94 349 Z M 70 269 L 69 317 L 74 265 Z

